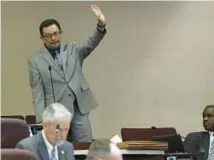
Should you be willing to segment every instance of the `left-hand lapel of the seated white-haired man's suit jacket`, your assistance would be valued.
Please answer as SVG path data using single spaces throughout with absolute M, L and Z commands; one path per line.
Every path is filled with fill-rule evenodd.
M 42 137 L 42 132 L 39 132 L 37 136 L 38 136 L 38 142 L 39 142 L 38 153 L 40 154 L 43 160 L 50 160 L 50 157 L 48 155 L 48 151 L 45 145 L 45 141 Z

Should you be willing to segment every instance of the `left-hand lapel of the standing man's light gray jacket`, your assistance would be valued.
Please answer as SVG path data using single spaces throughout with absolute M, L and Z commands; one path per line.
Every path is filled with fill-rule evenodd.
M 55 61 L 46 47 L 43 47 L 40 52 L 42 53 L 42 58 L 62 77 L 64 78 L 63 72 L 55 64 Z M 48 68 L 47 68 L 48 69 Z

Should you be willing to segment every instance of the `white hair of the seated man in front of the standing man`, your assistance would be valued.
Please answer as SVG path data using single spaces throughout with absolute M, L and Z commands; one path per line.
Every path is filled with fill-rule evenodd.
M 45 108 L 43 122 L 53 122 L 59 117 L 70 117 L 72 119 L 72 114 L 62 104 L 53 103 Z

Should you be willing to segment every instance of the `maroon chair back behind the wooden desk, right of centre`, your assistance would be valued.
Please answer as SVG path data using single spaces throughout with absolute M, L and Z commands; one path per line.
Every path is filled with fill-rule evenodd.
M 151 141 L 152 136 L 177 133 L 175 128 L 122 128 L 121 136 L 123 141 Z

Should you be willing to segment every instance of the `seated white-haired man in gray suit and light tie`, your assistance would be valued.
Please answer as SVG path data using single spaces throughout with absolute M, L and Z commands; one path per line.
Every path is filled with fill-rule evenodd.
M 71 113 L 62 104 L 47 106 L 43 130 L 21 140 L 16 148 L 33 151 L 37 160 L 74 160 L 73 145 L 66 141 L 71 119 Z

